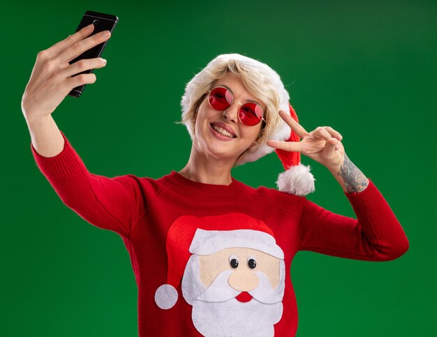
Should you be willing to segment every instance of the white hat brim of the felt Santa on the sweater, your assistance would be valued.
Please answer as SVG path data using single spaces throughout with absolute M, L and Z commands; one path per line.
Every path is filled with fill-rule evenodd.
M 283 259 L 283 251 L 272 235 L 260 230 L 198 230 L 195 231 L 190 253 L 211 255 L 225 248 L 252 248 Z

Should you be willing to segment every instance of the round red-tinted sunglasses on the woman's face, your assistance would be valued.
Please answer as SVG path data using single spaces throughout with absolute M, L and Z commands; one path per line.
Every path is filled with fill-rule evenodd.
M 212 90 L 209 90 L 208 102 L 215 110 L 224 111 L 228 109 L 234 103 L 234 98 L 232 96 L 232 92 L 225 87 L 216 87 Z M 242 123 L 247 126 L 255 126 L 260 121 L 265 121 L 262 118 L 262 109 L 260 105 L 248 102 L 248 103 L 239 103 L 235 100 L 241 107 L 238 110 L 238 119 Z

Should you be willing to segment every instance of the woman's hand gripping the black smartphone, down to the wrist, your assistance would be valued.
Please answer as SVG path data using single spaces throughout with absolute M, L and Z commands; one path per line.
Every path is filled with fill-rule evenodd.
M 104 44 L 109 38 L 110 35 L 105 36 L 105 31 L 95 33 L 95 25 L 91 22 L 68 38 L 39 52 L 22 96 L 24 117 L 46 117 L 54 112 L 67 95 L 73 92 L 73 96 L 79 97 L 85 84 L 96 82 L 92 70 L 103 68 L 105 61 L 100 57 L 80 58 L 84 52 Z M 98 49 L 100 56 L 103 47 Z M 71 62 L 78 59 L 80 61 Z M 80 88 L 82 91 L 77 91 Z

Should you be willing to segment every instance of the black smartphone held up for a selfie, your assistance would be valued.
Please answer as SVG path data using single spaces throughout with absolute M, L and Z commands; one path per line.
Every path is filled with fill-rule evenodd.
M 89 24 L 94 24 L 94 31 L 89 36 L 93 36 L 94 34 L 100 33 L 101 31 L 110 31 L 112 34 L 112 31 L 114 30 L 118 21 L 119 18 L 116 17 L 115 15 L 92 12 L 91 10 L 87 10 L 84 16 L 82 17 L 82 20 L 80 21 L 76 31 L 80 31 L 80 29 L 88 26 Z M 87 36 L 87 38 L 89 36 Z M 96 45 L 91 49 L 86 50 L 85 52 L 80 54 L 75 59 L 69 61 L 68 63 L 73 64 L 81 59 L 94 59 L 95 57 L 101 57 L 101 54 L 105 49 L 105 45 L 107 42 L 108 40 L 105 40 L 105 42 L 101 43 L 100 45 Z M 76 75 L 73 76 L 77 76 L 80 74 L 90 74 L 93 72 L 93 70 L 94 69 L 84 70 L 82 71 L 82 73 L 77 73 Z M 68 93 L 68 95 L 74 97 L 80 97 L 80 95 L 82 95 L 82 92 L 84 92 L 86 85 L 87 84 L 83 84 L 79 87 L 75 87 L 73 90 L 70 91 L 70 93 Z

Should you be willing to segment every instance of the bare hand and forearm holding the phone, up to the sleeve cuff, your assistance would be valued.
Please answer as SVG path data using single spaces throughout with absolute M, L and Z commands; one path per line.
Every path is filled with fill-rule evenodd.
M 105 35 L 105 31 L 89 36 L 92 31 L 94 24 L 84 27 L 36 56 L 34 69 L 24 89 L 21 108 L 32 142 L 43 156 L 56 156 L 62 149 L 62 137 L 51 114 L 73 88 L 96 82 L 94 73 L 82 72 L 106 65 L 106 61 L 101 58 L 82 59 L 70 64 L 80 54 L 110 37 L 110 33 Z

